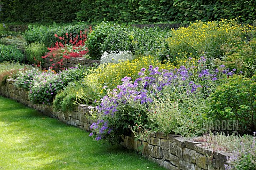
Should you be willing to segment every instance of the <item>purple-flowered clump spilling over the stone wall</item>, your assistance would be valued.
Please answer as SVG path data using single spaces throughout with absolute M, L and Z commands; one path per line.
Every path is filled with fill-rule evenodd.
M 200 64 L 206 61 L 204 57 L 200 60 Z M 111 141 L 121 137 L 129 125 L 148 125 L 147 108 L 166 92 L 164 91 L 166 88 L 175 87 L 179 92 L 187 95 L 203 93 L 205 95 L 201 96 L 206 98 L 213 87 L 218 85 L 222 74 L 223 71 L 219 72 L 218 69 L 199 70 L 196 67 L 181 66 L 174 70 L 159 70 L 158 67 L 149 66 L 147 75 L 146 68 L 142 68 L 139 78 L 134 81 L 131 77 L 124 77 L 123 83 L 114 90 L 108 90 L 107 95 L 96 107 L 95 116 L 98 120 L 91 125 L 95 134 L 94 139 Z

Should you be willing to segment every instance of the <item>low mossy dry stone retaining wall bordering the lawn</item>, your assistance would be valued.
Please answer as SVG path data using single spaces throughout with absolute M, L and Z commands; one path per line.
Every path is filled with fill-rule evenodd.
M 33 104 L 29 101 L 28 92 L 14 86 L 14 80 L 7 79 L 6 85 L 0 87 L 0 95 L 14 99 L 43 114 L 59 119 L 61 122 L 90 131 L 89 106 L 79 104 L 71 112 L 53 111 L 51 106 Z M 166 169 L 189 170 L 222 170 L 231 153 L 214 152 L 207 149 L 205 143 L 185 140 L 180 135 L 154 133 L 146 139 L 135 140 L 134 135 L 123 136 L 121 143 L 127 149 L 137 150 L 143 156 L 157 162 Z

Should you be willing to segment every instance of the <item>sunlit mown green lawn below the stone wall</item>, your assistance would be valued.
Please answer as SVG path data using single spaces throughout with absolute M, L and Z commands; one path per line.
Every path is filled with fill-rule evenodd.
M 164 169 L 0 96 L 0 169 Z

